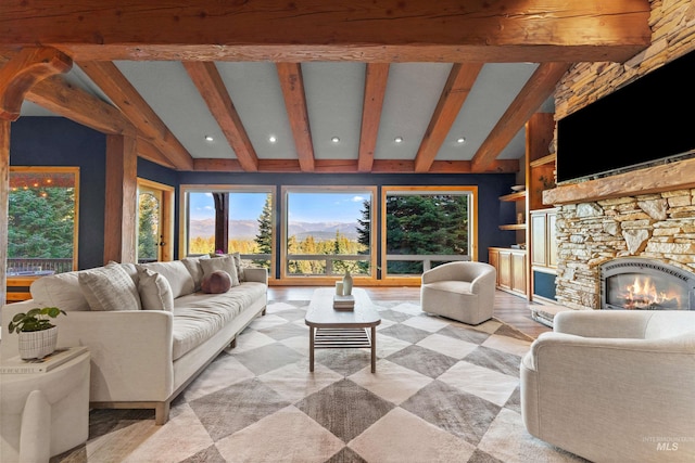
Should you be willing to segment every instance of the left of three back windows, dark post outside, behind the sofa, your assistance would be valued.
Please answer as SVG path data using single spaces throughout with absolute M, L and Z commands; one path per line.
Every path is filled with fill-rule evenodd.
M 274 187 L 185 185 L 181 191 L 186 203 L 181 255 L 238 252 L 254 266 L 271 268 Z M 220 218 L 226 223 L 219 223 Z M 216 229 L 225 230 L 226 248 L 216 241 Z

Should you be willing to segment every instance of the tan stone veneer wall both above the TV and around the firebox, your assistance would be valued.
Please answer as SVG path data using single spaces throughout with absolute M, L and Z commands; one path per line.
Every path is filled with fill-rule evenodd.
M 573 66 L 556 90 L 555 118 L 695 50 L 692 0 L 653 0 L 649 25 L 652 46 L 627 63 Z M 564 306 L 601 308 L 599 266 L 616 257 L 649 257 L 695 272 L 695 190 L 565 204 L 556 223 L 556 298 Z

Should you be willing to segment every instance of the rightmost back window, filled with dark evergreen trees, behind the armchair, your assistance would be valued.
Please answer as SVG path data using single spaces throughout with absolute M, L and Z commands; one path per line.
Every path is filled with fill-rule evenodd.
M 452 260 L 476 260 L 477 187 L 384 187 L 382 265 L 388 276 L 419 276 Z

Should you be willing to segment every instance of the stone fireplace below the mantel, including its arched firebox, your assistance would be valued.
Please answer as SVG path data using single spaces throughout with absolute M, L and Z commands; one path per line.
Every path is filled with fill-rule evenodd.
M 628 296 L 617 294 L 634 291 L 635 284 L 653 285 L 654 281 L 646 282 L 646 276 L 652 280 L 656 276 L 658 284 L 665 286 L 656 290 L 660 293 L 670 291 L 674 284 L 679 286 L 678 296 L 664 297 L 678 297 L 680 305 L 672 307 L 673 300 L 662 299 L 652 303 L 652 308 L 693 309 L 694 197 L 694 189 L 683 189 L 559 205 L 556 221 L 558 304 L 573 309 L 648 305 L 650 303 L 627 303 Z M 635 283 L 637 273 L 644 278 Z M 618 274 L 623 275 L 618 278 Z M 607 283 L 607 278 L 615 281 Z M 629 285 L 633 285 L 632 290 L 627 288 Z

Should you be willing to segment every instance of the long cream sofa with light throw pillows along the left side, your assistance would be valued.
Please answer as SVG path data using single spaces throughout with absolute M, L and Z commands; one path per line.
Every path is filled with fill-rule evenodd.
M 87 346 L 91 352 L 90 407 L 151 408 L 164 424 L 172 400 L 265 314 L 266 269 L 243 269 L 236 257 L 110 262 L 40 278 L 30 286 L 33 299 L 2 307 L 1 356 L 18 353 L 18 337 L 8 332 L 15 313 L 59 307 L 67 316 L 54 321 L 58 347 Z M 230 274 L 231 288 L 201 292 L 203 279 L 220 268 Z

